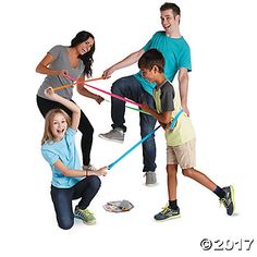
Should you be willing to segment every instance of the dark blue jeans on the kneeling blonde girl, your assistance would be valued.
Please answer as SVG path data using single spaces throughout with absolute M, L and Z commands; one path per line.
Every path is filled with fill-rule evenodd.
M 71 188 L 58 188 L 51 185 L 51 198 L 61 229 L 69 230 L 74 224 L 72 200 L 81 198 L 78 208 L 86 209 L 99 191 L 100 185 L 101 181 L 97 175 L 86 176 Z

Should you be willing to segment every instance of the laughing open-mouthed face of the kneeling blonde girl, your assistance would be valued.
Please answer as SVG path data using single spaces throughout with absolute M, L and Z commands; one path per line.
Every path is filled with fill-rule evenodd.
M 66 132 L 68 123 L 63 114 L 56 113 L 50 122 L 50 130 L 54 140 L 61 140 Z

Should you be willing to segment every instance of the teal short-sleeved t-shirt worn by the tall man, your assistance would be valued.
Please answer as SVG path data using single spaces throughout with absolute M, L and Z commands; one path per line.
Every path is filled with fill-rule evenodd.
M 180 68 L 185 68 L 188 72 L 191 72 L 191 49 L 183 37 L 171 38 L 168 37 L 164 32 L 157 32 L 143 47 L 145 51 L 152 48 L 156 48 L 163 54 L 166 59 L 164 75 L 170 82 L 173 81 Z M 136 73 L 134 76 L 139 81 L 143 88 L 152 95 L 156 83 L 149 83 L 142 76 L 142 72 Z

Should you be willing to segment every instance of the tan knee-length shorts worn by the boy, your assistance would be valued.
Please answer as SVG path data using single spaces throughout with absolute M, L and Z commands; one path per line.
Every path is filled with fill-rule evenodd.
M 181 146 L 167 147 L 167 164 L 179 164 L 181 169 L 188 169 L 196 166 L 195 159 L 195 139 Z

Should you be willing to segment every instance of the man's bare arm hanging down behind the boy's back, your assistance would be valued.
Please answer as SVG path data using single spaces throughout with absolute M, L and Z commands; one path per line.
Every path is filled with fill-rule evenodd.
M 179 70 L 179 87 L 180 87 L 180 96 L 181 96 L 181 106 L 184 112 L 189 115 L 189 110 L 187 108 L 187 91 L 188 91 L 188 72 L 185 68 L 181 68 Z

